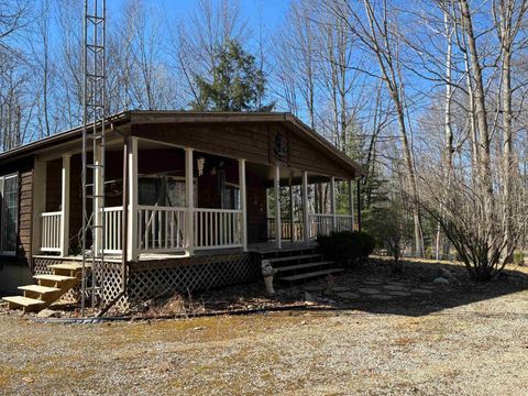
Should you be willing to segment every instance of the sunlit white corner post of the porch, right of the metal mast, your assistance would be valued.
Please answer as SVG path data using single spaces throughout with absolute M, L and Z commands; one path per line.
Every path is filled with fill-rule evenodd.
M 127 144 L 129 162 L 129 230 L 127 241 L 127 258 L 135 262 L 139 258 L 138 250 L 138 138 L 131 136 Z

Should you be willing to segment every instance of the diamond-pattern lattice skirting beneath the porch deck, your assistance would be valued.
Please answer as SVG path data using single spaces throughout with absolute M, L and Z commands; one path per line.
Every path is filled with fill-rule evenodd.
M 52 273 L 47 265 L 68 262 L 62 258 L 34 258 L 36 274 Z M 98 284 L 102 284 L 103 305 L 121 293 L 122 264 L 106 262 L 98 266 Z M 204 255 L 129 263 L 127 293 L 116 302 L 123 311 L 133 305 L 175 293 L 188 294 L 216 287 L 256 280 L 260 277 L 260 257 L 251 253 Z M 79 297 L 79 290 L 68 298 Z

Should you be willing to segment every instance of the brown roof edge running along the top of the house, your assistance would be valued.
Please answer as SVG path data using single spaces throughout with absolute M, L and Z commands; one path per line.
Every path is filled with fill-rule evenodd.
M 237 122 L 278 122 L 299 132 L 299 135 L 317 145 L 323 153 L 333 157 L 355 175 L 362 176 L 364 170 L 353 160 L 331 145 L 324 138 L 306 125 L 298 118 L 288 112 L 196 112 L 196 111 L 173 111 L 173 110 L 131 110 L 123 111 L 107 118 L 108 130 L 118 131 L 122 134 L 130 133 L 131 125 L 153 123 L 237 123 Z M 73 142 L 82 136 L 82 125 L 76 127 L 53 136 L 44 138 L 22 146 L 0 153 L 0 163 L 21 160 L 34 155 L 40 150 L 57 146 L 61 150 L 62 143 Z

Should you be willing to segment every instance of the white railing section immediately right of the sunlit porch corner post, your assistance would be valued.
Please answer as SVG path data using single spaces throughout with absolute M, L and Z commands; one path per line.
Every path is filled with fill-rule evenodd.
M 178 252 L 185 249 L 187 208 L 139 206 L 138 248 L 140 252 Z

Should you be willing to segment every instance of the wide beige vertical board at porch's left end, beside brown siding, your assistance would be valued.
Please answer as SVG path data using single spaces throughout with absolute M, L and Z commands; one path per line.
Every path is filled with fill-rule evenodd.
M 33 254 L 41 253 L 42 245 L 42 217 L 46 211 L 46 162 L 35 157 L 33 169 Z

